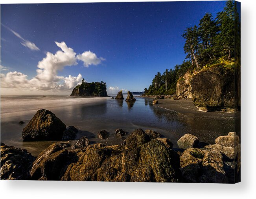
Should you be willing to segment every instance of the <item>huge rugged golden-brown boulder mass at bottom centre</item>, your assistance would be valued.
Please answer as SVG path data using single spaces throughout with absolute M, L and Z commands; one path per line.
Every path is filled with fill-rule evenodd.
M 129 147 L 125 149 L 127 144 Z M 68 166 L 62 180 L 181 181 L 179 156 L 164 142 L 138 129 L 128 136 L 127 144 L 125 147 L 90 145 L 84 152 L 77 153 L 78 161 Z

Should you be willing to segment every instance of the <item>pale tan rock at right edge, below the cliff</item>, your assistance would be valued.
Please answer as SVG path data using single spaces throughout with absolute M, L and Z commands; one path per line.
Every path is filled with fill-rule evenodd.
M 215 143 L 221 146 L 233 147 L 239 144 L 239 137 L 235 132 L 230 132 L 228 135 L 219 136 L 215 139 Z

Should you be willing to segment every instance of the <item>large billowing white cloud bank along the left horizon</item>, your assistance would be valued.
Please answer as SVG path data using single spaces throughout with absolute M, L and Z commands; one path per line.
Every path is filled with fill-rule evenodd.
M 47 52 L 46 57 L 38 62 L 37 75 L 32 79 L 28 79 L 28 76 L 14 71 L 8 72 L 6 75 L 1 73 L 1 88 L 20 90 L 20 88 L 26 91 L 67 91 L 73 89 L 83 79 L 79 73 L 77 77 L 68 75 L 68 77 L 58 76 L 58 71 L 61 71 L 65 66 L 74 66 L 77 64 L 76 53 L 65 42 L 55 42 L 55 44 L 61 48 L 55 54 Z M 94 54 L 94 53 L 93 53 Z M 95 54 L 94 54 L 95 55 Z M 96 55 L 95 55 L 96 56 Z M 97 56 L 96 56 L 97 57 Z M 96 64 L 94 62 L 94 64 Z M 1 66 L 1 70 L 7 70 L 6 67 Z M 54 93 L 56 94 L 56 93 Z

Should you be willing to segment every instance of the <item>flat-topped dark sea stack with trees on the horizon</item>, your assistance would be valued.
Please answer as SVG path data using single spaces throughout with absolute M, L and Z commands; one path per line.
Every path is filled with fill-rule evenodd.
M 103 82 L 83 82 L 73 89 L 70 96 L 79 97 L 107 97 L 107 87 Z

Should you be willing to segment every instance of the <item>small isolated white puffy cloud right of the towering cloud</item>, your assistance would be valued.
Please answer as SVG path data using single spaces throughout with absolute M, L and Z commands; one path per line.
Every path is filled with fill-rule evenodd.
M 83 64 L 85 67 L 88 67 L 89 65 L 98 65 L 101 63 L 101 61 L 106 60 L 103 57 L 98 58 L 95 53 L 92 53 L 91 51 L 85 51 L 82 54 L 79 54 L 76 56 L 78 60 L 83 61 Z

